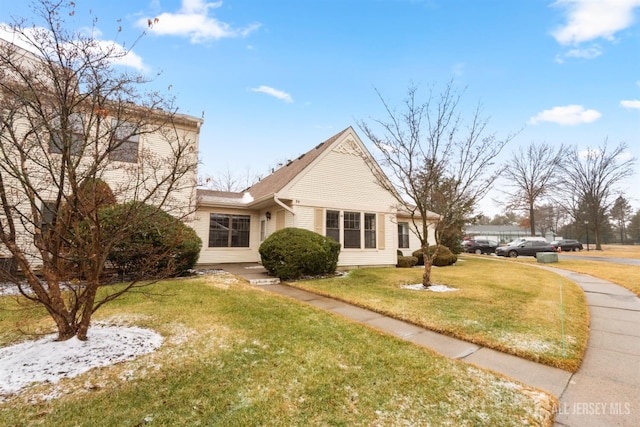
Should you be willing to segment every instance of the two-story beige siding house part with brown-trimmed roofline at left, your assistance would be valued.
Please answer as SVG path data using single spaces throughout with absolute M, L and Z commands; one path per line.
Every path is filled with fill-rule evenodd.
M 54 212 L 53 204 L 63 202 L 56 202 L 60 196 L 58 193 L 70 193 L 69 179 L 60 180 L 62 184 L 52 183 L 52 177 L 58 179 L 58 165 L 62 163 L 62 137 L 55 137 L 57 129 L 62 126 L 62 115 L 56 114 L 60 111 L 62 96 L 55 95 L 55 91 L 47 96 L 56 81 L 48 71 L 62 68 L 2 39 L 0 53 L 4 58 L 0 69 L 3 77 L 0 92 L 0 144 L 3 152 L 0 157 L 3 164 L 0 166 L 0 178 L 5 189 L 3 203 L 7 208 L 11 207 L 5 211 L 3 204 L 0 222 L 5 225 L 3 230 L 8 230 L 5 213 L 12 212 L 15 244 L 28 259 L 37 262 L 40 254 L 34 245 L 36 229 L 46 224 L 48 213 Z M 9 67 L 8 63 L 13 65 Z M 14 103 L 10 95 L 16 87 L 30 87 L 31 78 L 28 76 L 34 71 L 41 72 L 38 82 L 42 87 L 34 90 L 38 96 L 33 104 L 40 108 L 32 114 L 25 107 L 26 103 Z M 27 77 L 21 80 L 21 73 Z M 60 79 L 58 83 L 73 81 Z M 159 108 L 142 108 L 133 103 L 97 100 L 98 97 L 94 99 L 81 94 L 79 84 L 78 87 L 70 86 L 76 91 L 69 89 L 67 95 L 76 98 L 73 98 L 74 112 L 66 117 L 68 129 L 64 129 L 71 135 L 69 139 L 74 141 L 71 146 L 72 165 L 67 167 L 67 171 L 72 170 L 78 182 L 82 177 L 104 180 L 119 202 L 145 200 L 162 204 L 176 217 L 192 219 L 196 207 L 196 165 L 203 120 Z M 58 135 L 62 132 L 60 130 Z M 114 145 L 118 149 L 107 151 Z M 175 160 L 178 165 L 172 165 L 171 159 L 178 159 L 176 152 L 179 150 L 179 160 Z M 108 159 L 96 160 L 107 152 Z M 173 176 L 178 177 L 167 178 Z M 33 189 L 32 198 L 25 197 L 28 186 Z M 9 238 L 8 232 L 7 236 Z M 7 247 L 0 243 L 0 258 L 9 255 Z

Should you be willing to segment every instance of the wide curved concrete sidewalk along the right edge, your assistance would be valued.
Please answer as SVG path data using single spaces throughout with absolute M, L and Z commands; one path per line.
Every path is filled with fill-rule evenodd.
M 591 316 L 580 369 L 556 395 L 560 398 L 556 425 L 640 425 L 640 298 L 587 274 L 542 268 L 577 283 Z

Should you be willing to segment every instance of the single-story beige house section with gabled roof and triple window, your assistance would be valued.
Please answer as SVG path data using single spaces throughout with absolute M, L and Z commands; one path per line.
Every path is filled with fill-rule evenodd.
M 271 233 L 297 227 L 340 242 L 339 268 L 394 266 L 398 249 L 408 255 L 421 245 L 376 176 L 384 174 L 348 127 L 242 192 L 199 189 L 189 224 L 203 241 L 198 262 L 259 262 Z

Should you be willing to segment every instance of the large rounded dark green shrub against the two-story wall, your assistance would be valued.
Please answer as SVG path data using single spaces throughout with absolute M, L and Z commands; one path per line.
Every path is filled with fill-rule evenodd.
M 184 274 L 200 256 L 202 240 L 178 218 L 140 202 L 103 208 L 105 229 L 120 230 L 134 224 L 115 241 L 108 261 L 122 274 L 134 278 L 160 278 Z

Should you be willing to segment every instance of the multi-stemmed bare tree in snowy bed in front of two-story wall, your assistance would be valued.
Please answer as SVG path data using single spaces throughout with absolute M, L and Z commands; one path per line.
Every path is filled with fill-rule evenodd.
M 0 40 L 0 251 L 20 273 L 3 279 L 44 306 L 58 339 L 85 340 L 99 307 L 144 284 L 103 286 L 111 248 L 153 221 L 141 207 L 194 209 L 201 121 L 119 72 L 123 46 L 96 28 L 67 30 L 75 4 L 63 3 L 40 0 L 33 16 L 44 26 L 17 20 L 4 28 L 12 42 Z M 119 202 L 136 202 L 119 221 L 105 222 L 104 191 L 87 190 L 103 181 Z M 150 254 L 148 265 L 166 256 Z

